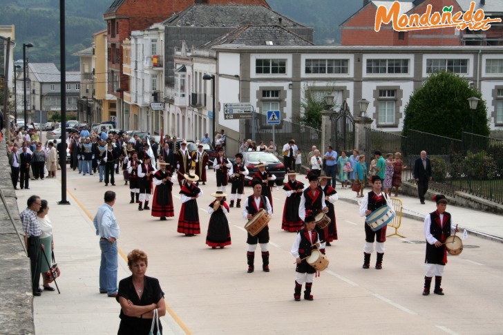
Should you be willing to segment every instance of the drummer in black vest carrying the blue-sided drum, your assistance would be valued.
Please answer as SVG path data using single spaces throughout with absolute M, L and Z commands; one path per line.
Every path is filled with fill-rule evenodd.
M 363 195 L 363 200 L 360 204 L 360 216 L 369 216 L 370 213 L 386 205 L 385 193 L 381 191 L 382 180 L 379 175 L 373 175 L 371 180 L 372 191 Z M 377 260 L 375 268 L 380 270 L 383 268 L 384 242 L 386 242 L 386 227 L 384 225 L 377 231 L 372 231 L 368 224 L 365 223 L 365 246 L 363 247 L 363 269 L 370 267 L 370 255 L 374 251 L 374 240 L 376 241 L 375 250 L 377 251 Z

